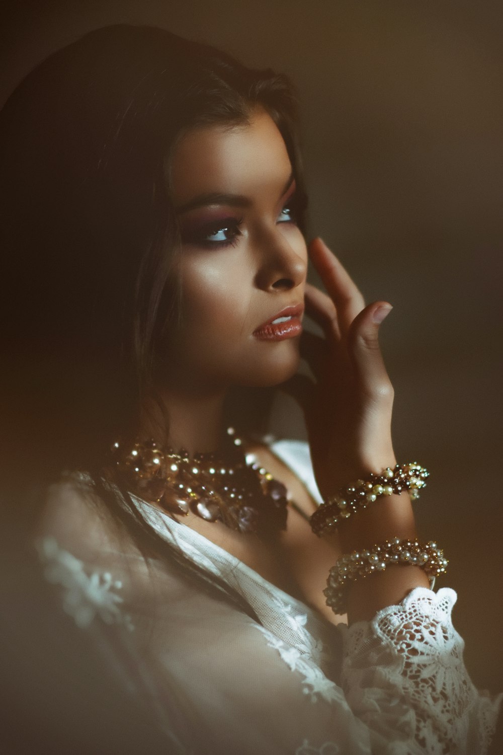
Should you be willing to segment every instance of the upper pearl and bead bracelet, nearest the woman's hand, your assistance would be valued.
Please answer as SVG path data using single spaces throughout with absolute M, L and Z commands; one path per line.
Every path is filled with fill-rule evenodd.
M 407 490 L 410 497 L 416 500 L 428 476 L 428 470 L 416 462 L 397 464 L 394 469 L 387 467 L 380 475 L 370 473 L 368 480 L 359 479 L 354 485 L 341 488 L 337 495 L 324 501 L 311 514 L 311 529 L 314 535 L 321 537 L 331 529 L 337 529 L 351 514 L 367 508 L 382 495 L 400 495 Z

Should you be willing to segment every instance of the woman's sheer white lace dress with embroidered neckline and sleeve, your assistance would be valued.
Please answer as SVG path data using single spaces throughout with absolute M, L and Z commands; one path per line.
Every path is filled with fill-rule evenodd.
M 319 500 L 307 445 L 271 449 Z M 373 621 L 335 627 L 135 499 L 167 544 L 234 588 L 257 622 L 172 565 L 147 568 L 85 492 L 75 477 L 54 488 L 36 540 L 44 574 L 134 699 L 157 712 L 167 753 L 486 753 L 501 696 L 468 677 L 453 590 L 418 588 Z

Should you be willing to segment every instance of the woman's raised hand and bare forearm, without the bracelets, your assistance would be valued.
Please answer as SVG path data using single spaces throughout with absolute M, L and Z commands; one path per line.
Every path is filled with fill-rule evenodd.
M 324 335 L 301 336 L 301 354 L 314 381 L 297 374 L 284 387 L 304 410 L 314 476 L 326 500 L 342 485 L 396 464 L 391 442 L 394 392 L 378 339 L 391 304 L 374 301 L 366 307 L 357 286 L 321 239 L 311 242 L 309 253 L 327 294 L 307 285 L 306 312 Z M 409 496 L 390 495 L 324 538 L 351 553 L 388 538 L 415 536 Z M 416 565 L 391 565 L 372 580 L 357 580 L 348 594 L 348 621 L 370 619 L 414 587 L 428 587 L 425 572 Z

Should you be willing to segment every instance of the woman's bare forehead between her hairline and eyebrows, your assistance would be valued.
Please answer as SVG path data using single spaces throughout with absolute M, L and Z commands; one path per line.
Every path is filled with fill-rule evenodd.
M 267 113 L 247 125 L 195 128 L 176 146 L 171 186 L 176 205 L 195 195 L 278 193 L 292 168 L 283 137 Z

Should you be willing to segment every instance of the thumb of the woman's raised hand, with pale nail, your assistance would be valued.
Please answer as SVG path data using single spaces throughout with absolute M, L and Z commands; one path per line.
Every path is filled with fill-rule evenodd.
M 348 351 L 360 387 L 376 402 L 393 399 L 393 387 L 379 346 L 379 326 L 391 304 L 375 301 L 357 315 L 348 332 Z

